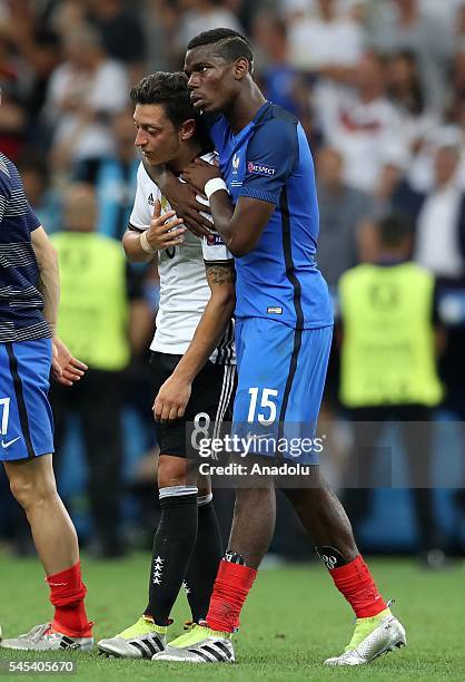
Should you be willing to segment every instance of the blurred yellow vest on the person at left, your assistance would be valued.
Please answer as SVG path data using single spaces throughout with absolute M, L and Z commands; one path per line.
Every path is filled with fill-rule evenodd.
M 58 335 L 91 369 L 119 371 L 130 358 L 126 259 L 121 244 L 93 232 L 59 232 Z

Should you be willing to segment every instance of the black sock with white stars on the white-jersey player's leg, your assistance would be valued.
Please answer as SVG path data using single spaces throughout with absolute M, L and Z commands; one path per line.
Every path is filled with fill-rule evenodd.
M 145 613 L 151 615 L 157 625 L 167 625 L 196 546 L 197 488 L 161 488 L 160 507 Z

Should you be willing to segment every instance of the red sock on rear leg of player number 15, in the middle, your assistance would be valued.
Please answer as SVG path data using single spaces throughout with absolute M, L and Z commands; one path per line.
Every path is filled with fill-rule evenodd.
M 240 611 L 256 575 L 255 568 L 221 559 L 206 618 L 208 627 L 236 632 Z

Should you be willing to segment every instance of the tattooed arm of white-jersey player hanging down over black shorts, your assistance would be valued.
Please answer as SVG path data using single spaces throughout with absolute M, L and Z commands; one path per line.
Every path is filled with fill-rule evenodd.
M 189 348 L 155 399 L 154 416 L 157 421 L 171 421 L 184 416 L 192 381 L 217 348 L 234 313 L 236 304 L 234 262 L 206 263 L 206 271 L 210 300 Z

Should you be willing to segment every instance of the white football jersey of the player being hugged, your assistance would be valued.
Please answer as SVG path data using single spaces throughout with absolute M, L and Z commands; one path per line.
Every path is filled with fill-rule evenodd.
M 212 163 L 216 155 L 210 153 L 201 158 Z M 202 197 L 197 198 L 202 204 L 207 203 Z M 169 203 L 141 163 L 137 173 L 137 192 L 129 226 L 140 232 L 148 230 L 157 199 L 161 203 L 161 213 L 171 211 Z M 205 215 L 211 220 L 209 214 Z M 158 252 L 160 303 L 156 332 L 150 344 L 154 351 L 176 355 L 182 355 L 188 349 L 210 299 L 205 261 L 224 263 L 234 260 L 217 232 L 212 231 L 211 235 L 200 240 L 187 230 L 184 237 L 179 246 Z M 236 362 L 233 321 L 210 360 L 220 364 Z

